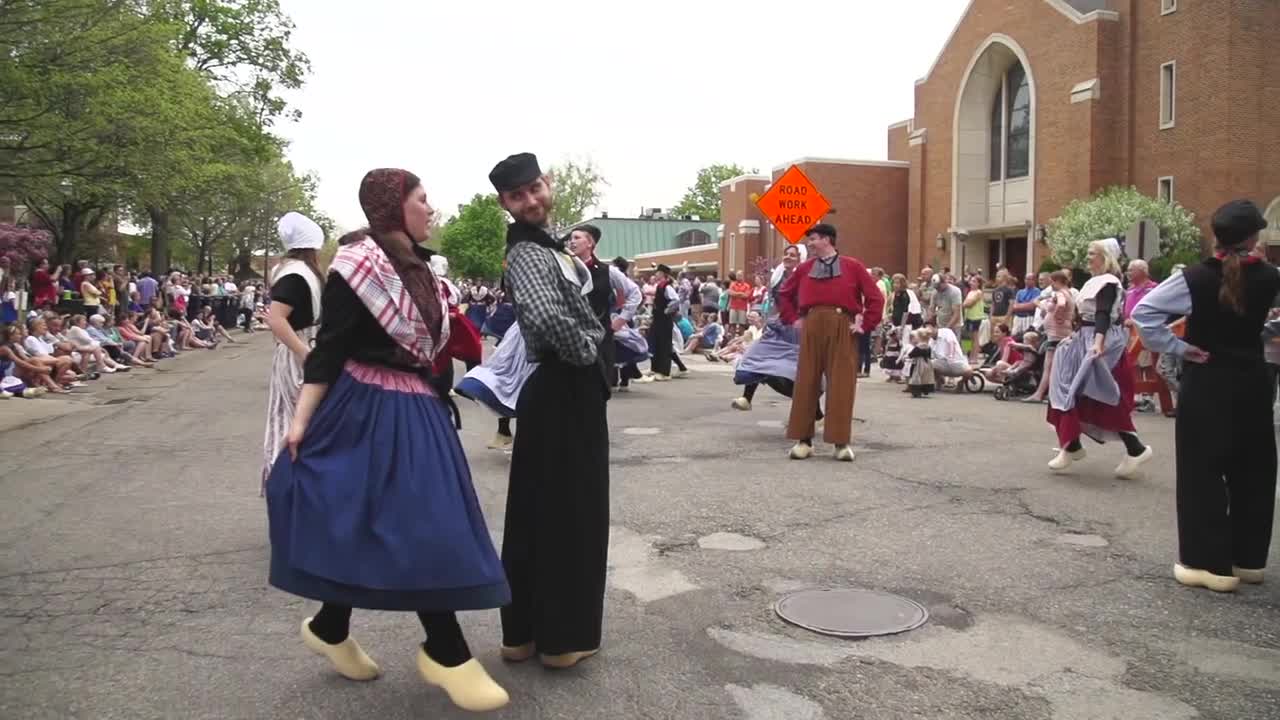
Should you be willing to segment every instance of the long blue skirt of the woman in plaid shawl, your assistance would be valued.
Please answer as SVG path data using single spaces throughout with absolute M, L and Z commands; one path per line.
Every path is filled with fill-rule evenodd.
M 348 363 L 266 501 L 282 591 L 370 610 L 511 601 L 457 432 L 417 375 Z

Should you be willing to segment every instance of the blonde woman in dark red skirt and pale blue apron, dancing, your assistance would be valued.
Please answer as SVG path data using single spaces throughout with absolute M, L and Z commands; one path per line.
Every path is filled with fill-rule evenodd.
M 1100 443 L 1119 438 L 1125 459 L 1115 474 L 1132 479 L 1153 452 L 1133 425 L 1134 374 L 1125 352 L 1129 333 L 1120 322 L 1120 243 L 1115 238 L 1091 242 L 1087 259 L 1092 277 L 1076 301 L 1080 328 L 1053 356 L 1048 421 L 1057 430 L 1060 450 L 1048 466 L 1060 471 L 1083 460 L 1080 436 Z

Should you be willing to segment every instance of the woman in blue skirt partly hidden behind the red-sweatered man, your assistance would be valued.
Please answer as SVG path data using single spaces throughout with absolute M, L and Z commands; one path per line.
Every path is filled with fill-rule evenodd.
M 767 384 L 778 395 L 791 397 L 795 391 L 796 368 L 800 363 L 800 337 L 791 325 L 778 320 L 778 287 L 791 277 L 796 265 L 805 259 L 804 245 L 788 245 L 782 251 L 782 264 L 773 269 L 769 277 L 769 313 L 765 318 L 764 334 L 751 343 L 737 361 L 733 383 L 744 386 L 742 396 L 733 401 L 735 410 L 750 410 L 755 391 Z M 818 421 L 822 421 L 822 409 L 818 409 Z

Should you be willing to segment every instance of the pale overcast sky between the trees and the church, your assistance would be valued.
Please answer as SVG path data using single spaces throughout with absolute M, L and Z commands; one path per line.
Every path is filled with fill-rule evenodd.
M 512 152 L 593 160 L 599 209 L 635 217 L 712 163 L 883 160 L 966 0 L 282 4 L 312 74 L 280 131 L 320 209 L 355 228 L 375 167 L 416 172 L 452 214 Z

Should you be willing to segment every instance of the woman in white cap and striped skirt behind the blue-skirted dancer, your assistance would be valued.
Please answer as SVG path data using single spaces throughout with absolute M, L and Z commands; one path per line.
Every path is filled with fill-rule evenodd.
M 276 224 L 284 261 L 271 273 L 271 310 L 266 327 L 275 336 L 271 378 L 266 392 L 266 437 L 262 441 L 262 477 L 259 492 L 266 495 L 266 477 L 284 450 L 284 437 L 302 389 L 302 363 L 311 352 L 311 340 L 320 322 L 320 291 L 324 274 L 316 251 L 324 231 L 311 218 L 288 213 Z

